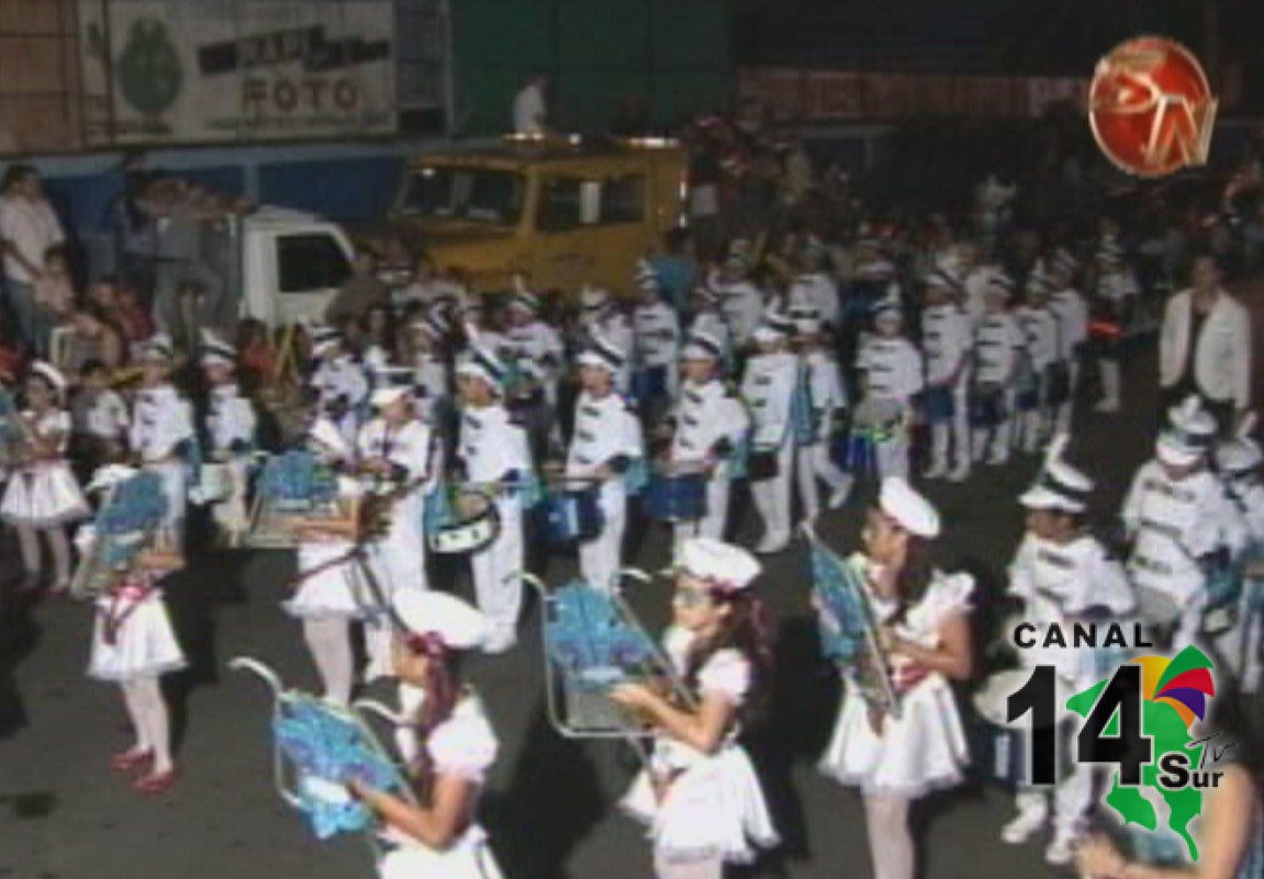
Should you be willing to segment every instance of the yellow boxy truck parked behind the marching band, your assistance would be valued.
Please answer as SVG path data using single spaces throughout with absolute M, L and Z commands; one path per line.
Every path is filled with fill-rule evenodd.
M 475 292 L 619 293 L 684 221 L 686 167 L 674 140 L 509 136 L 410 160 L 391 225 Z

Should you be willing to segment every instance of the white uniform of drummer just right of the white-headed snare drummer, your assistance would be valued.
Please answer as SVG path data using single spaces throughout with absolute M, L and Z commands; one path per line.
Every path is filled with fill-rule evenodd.
M 627 402 L 613 392 L 598 399 L 584 392 L 575 402 L 575 433 L 566 455 L 566 476 L 590 477 L 611 461 L 645 457 L 641 422 Z M 622 472 L 595 486 L 602 509 L 602 530 L 579 544 L 579 570 L 597 589 L 613 589 L 623 562 L 623 532 L 628 496 Z

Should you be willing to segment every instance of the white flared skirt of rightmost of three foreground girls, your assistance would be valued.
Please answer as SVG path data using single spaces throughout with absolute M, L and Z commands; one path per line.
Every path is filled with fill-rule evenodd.
M 900 719 L 873 731 L 868 706 L 848 685 L 820 770 L 866 796 L 916 798 L 954 787 L 969 764 L 969 749 L 952 687 L 929 677 L 906 692 Z

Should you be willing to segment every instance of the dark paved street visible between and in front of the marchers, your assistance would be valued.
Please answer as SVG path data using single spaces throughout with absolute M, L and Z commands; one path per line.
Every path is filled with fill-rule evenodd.
M 1074 457 L 1100 480 L 1101 508 L 1115 509 L 1133 470 L 1149 455 L 1153 427 L 1153 356 L 1129 366 L 1129 414 L 1083 413 Z M 1019 538 L 1015 495 L 1035 471 L 1034 460 L 987 470 L 966 486 L 929 487 L 945 520 L 940 562 L 980 580 L 985 607 Z M 839 548 L 854 546 L 862 501 L 828 515 L 820 532 Z M 744 505 L 744 501 L 743 501 Z M 757 538 L 753 517 L 739 537 Z M 648 529 L 635 562 L 666 561 L 666 533 Z M 4 559 L 13 567 L 15 547 Z M 88 681 L 91 610 L 67 601 L 37 607 L 6 596 L 0 629 L 0 876 L 14 879 L 349 879 L 368 876 L 364 844 L 316 842 L 283 806 L 269 779 L 270 703 L 250 677 L 226 669 L 241 654 L 274 666 L 286 679 L 311 686 L 315 673 L 298 624 L 278 604 L 292 571 L 286 553 L 196 559 L 171 583 L 174 620 L 191 659 L 169 679 L 178 727 L 182 778 L 173 792 L 144 799 L 106 768 L 128 744 L 115 687 Z M 573 559 L 554 559 L 559 583 Z M 461 566 L 436 570 L 435 585 L 468 595 Z M 867 875 L 860 798 L 819 777 L 814 763 L 825 744 L 838 686 L 817 658 L 808 613 L 805 552 L 796 544 L 774 559 L 762 580 L 780 625 L 779 679 L 772 719 L 752 734 L 775 818 L 787 842 L 755 875 L 825 879 Z M 666 583 L 632 594 L 653 626 L 666 610 Z M 493 849 L 508 879 L 641 879 L 650 875 L 648 846 L 616 810 L 632 763 L 609 744 L 560 739 L 542 712 L 538 618 L 532 605 L 520 647 L 506 657 L 479 658 L 471 676 L 489 706 L 502 751 L 483 806 Z M 1009 815 L 1006 797 L 972 784 L 918 810 L 928 852 L 925 879 L 1050 875 L 1040 860 L 1044 840 L 1011 847 L 997 840 Z

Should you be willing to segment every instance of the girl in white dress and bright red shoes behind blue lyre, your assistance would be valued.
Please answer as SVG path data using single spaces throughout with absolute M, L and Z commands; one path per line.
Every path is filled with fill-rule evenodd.
M 106 489 L 135 474 L 131 467 L 107 465 L 92 477 L 88 490 Z M 133 788 L 147 796 L 166 793 L 176 780 L 171 711 L 159 679 L 186 666 L 158 585 L 163 576 L 183 567 L 183 559 L 162 543 L 161 534 L 158 546 L 142 549 L 97 599 L 87 669 L 88 677 L 118 683 L 123 690 L 135 744 L 114 754 L 110 767 L 120 773 L 140 773 Z M 90 528 L 80 532 L 85 543 L 90 538 Z

